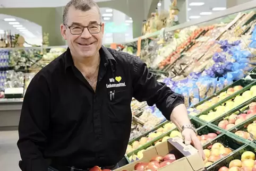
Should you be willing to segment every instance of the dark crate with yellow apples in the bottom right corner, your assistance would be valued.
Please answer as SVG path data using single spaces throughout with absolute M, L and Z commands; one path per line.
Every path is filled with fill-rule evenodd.
M 208 168 L 209 171 L 256 171 L 256 147 L 250 144 Z

